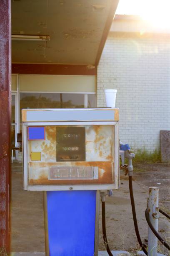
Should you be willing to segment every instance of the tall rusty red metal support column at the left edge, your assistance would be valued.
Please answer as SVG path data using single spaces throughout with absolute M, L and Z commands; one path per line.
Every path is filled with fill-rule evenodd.
M 10 253 L 11 0 L 0 0 L 0 251 Z M 2 251 L 3 250 L 3 251 Z M 3 255 L 3 254 L 2 254 Z

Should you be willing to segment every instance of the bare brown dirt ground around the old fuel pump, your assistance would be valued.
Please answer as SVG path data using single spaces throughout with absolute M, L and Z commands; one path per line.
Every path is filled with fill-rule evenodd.
M 159 205 L 170 214 L 170 166 L 168 164 L 134 164 L 133 190 L 141 238 L 147 239 L 145 220 L 148 187 L 159 187 Z M 12 251 L 45 251 L 42 192 L 23 191 L 22 166 L 12 166 Z M 128 176 L 120 172 L 120 189 L 113 197 L 106 197 L 106 228 L 110 249 L 135 251 L 138 241 L 133 225 Z M 159 219 L 163 238 L 170 237 L 170 221 L 163 215 Z M 167 240 L 168 241 L 168 240 Z M 170 242 L 170 240 L 169 240 Z M 168 251 L 159 246 L 160 252 Z M 99 250 L 105 250 L 100 212 Z

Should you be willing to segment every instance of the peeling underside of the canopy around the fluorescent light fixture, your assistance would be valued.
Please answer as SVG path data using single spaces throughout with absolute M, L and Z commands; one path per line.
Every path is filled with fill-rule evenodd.
M 97 65 L 118 0 L 13 0 L 12 34 L 50 41 L 12 41 L 13 63 Z

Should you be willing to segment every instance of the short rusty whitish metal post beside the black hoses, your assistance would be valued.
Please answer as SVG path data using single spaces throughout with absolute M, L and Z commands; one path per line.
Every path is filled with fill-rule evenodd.
M 149 218 L 156 231 L 158 231 L 159 218 L 158 193 L 158 187 L 149 187 L 149 198 L 147 200 L 149 208 Z M 152 230 L 148 227 L 148 256 L 157 256 L 157 249 L 158 239 L 154 235 Z

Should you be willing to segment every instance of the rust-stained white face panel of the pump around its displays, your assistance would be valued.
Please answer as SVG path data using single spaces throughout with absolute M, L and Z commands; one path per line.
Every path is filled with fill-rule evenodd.
M 67 127 L 67 129 L 66 129 Z M 57 157 L 57 141 L 58 131 L 70 131 L 69 127 L 73 130 L 75 128 L 76 135 L 80 128 L 85 131 L 85 161 L 58 161 Z M 79 128 L 77 130 L 77 128 Z M 28 184 L 113 184 L 114 183 L 114 126 L 113 125 L 76 125 L 76 126 L 59 126 L 59 125 L 46 125 L 45 126 L 45 141 L 28 141 Z M 61 136 L 61 133 L 60 133 Z M 75 137 L 75 140 L 77 138 Z M 71 140 L 72 142 L 72 140 Z M 70 143 L 70 142 L 69 142 Z M 76 146 L 73 143 L 74 147 Z M 79 145 L 80 144 L 80 145 Z M 78 143 L 81 146 L 81 143 Z M 84 145 L 82 145 L 84 147 Z M 67 148 L 67 145 L 64 145 Z M 71 144 L 68 148 L 72 148 Z M 41 152 L 41 161 L 31 161 L 31 152 Z M 97 169 L 97 178 L 76 179 L 50 179 L 51 167 L 70 167 L 70 172 L 78 167 L 93 167 Z M 90 169 L 90 168 L 89 168 Z M 79 170 L 80 171 L 80 170 Z M 66 171 L 65 171 L 66 172 Z M 86 172 L 86 171 L 85 171 Z M 71 175 L 71 174 L 70 174 Z M 70 176 L 69 176 L 70 177 Z

